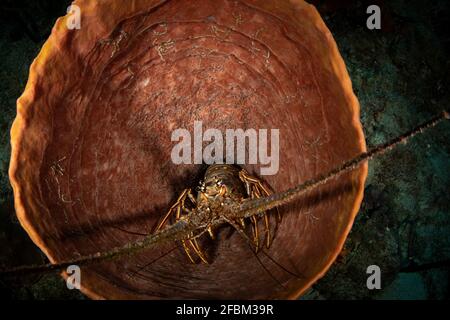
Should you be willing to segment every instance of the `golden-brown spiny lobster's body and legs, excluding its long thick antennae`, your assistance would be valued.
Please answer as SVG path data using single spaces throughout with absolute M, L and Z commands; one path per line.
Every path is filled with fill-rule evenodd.
M 225 212 L 228 207 L 236 206 L 245 199 L 257 199 L 263 196 L 269 196 L 270 191 L 268 187 L 260 179 L 251 176 L 245 169 L 239 169 L 229 164 L 213 164 L 206 170 L 204 180 L 200 181 L 197 189 L 197 198 L 194 197 L 190 188 L 184 189 L 181 192 L 178 200 L 161 220 L 156 231 L 162 230 L 172 215 L 175 215 L 176 221 L 179 221 L 186 219 L 192 213 L 193 209 L 196 209 L 197 214 L 199 216 L 203 215 L 202 219 L 205 221 L 212 221 L 220 216 L 224 217 L 226 222 L 243 235 L 249 243 L 253 244 L 255 252 L 258 252 L 260 247 L 260 235 L 258 231 L 259 216 L 232 218 L 227 217 Z M 186 201 L 191 202 L 190 208 L 188 208 Z M 277 212 L 278 220 L 280 221 L 281 216 L 279 211 Z M 269 216 L 264 212 L 260 217 L 264 219 L 265 244 L 269 248 L 271 243 Z M 245 233 L 245 220 L 250 220 L 253 231 L 252 240 Z M 205 231 L 214 239 L 212 226 L 206 225 L 203 231 L 193 232 L 189 235 L 188 239 L 181 240 L 183 249 L 192 263 L 195 263 L 195 260 L 191 254 L 191 249 L 193 249 L 202 262 L 208 263 L 197 241 Z

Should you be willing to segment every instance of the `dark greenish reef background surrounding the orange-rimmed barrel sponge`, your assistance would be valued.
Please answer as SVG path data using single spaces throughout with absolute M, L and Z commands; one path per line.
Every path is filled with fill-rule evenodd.
M 118 0 L 119 1 L 119 0 Z M 361 103 L 368 146 L 450 109 L 450 2 L 316 0 Z M 0 265 L 46 259 L 20 227 L 8 180 L 9 130 L 28 69 L 70 1 L 0 4 Z M 382 29 L 366 28 L 366 8 Z M 450 298 L 450 124 L 370 162 L 365 198 L 345 248 L 302 299 Z M 368 290 L 366 268 L 382 271 Z M 85 299 L 58 275 L 0 282 L 11 299 Z

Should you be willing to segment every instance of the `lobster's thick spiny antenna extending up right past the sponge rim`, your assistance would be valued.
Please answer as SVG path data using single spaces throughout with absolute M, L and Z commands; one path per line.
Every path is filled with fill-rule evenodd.
M 270 196 L 251 199 L 245 201 L 241 205 L 236 208 L 236 216 L 241 218 L 251 217 L 255 214 L 262 213 L 272 208 L 280 207 L 284 204 L 291 202 L 292 200 L 300 197 L 302 194 L 311 191 L 314 188 L 319 187 L 327 183 L 328 181 L 342 175 L 347 171 L 351 171 L 356 169 L 360 164 L 365 161 L 368 161 L 375 156 L 379 156 L 387 151 L 393 149 L 400 143 L 406 143 L 410 138 L 415 135 L 422 133 L 424 130 L 428 128 L 432 128 L 440 123 L 442 120 L 450 119 L 450 115 L 447 111 L 442 111 L 439 115 L 431 118 L 430 120 L 422 123 L 421 125 L 415 127 L 414 129 L 388 141 L 384 144 L 381 144 L 377 147 L 370 149 L 369 151 L 363 152 L 355 158 L 348 160 L 342 163 L 340 166 L 335 169 L 329 171 L 328 173 L 321 174 L 316 178 L 307 180 L 296 187 L 290 188 L 283 192 L 274 193 Z

